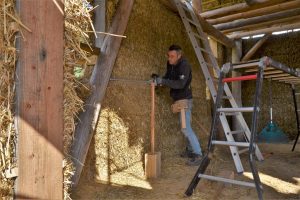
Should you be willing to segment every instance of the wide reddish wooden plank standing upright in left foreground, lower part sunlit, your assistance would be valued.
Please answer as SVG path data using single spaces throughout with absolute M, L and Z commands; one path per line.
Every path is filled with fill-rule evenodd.
M 50 0 L 19 4 L 32 33 L 23 32 L 17 72 L 16 198 L 63 199 L 64 18 Z

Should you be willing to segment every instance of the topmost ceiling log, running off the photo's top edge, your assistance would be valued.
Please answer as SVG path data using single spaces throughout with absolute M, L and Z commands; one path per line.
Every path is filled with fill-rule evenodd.
M 286 0 L 264 0 L 263 3 L 257 4 L 254 6 L 249 6 L 247 3 L 238 3 L 238 4 L 234 4 L 232 6 L 227 6 L 227 7 L 218 8 L 215 10 L 206 11 L 204 13 L 201 13 L 201 17 L 203 17 L 205 19 L 216 18 L 216 17 L 225 16 L 225 15 L 229 15 L 229 14 L 236 13 L 236 12 L 243 12 L 246 10 L 257 9 L 257 8 L 265 7 L 268 5 L 274 5 L 274 4 L 278 4 L 280 2 L 284 2 L 284 1 L 286 1 Z

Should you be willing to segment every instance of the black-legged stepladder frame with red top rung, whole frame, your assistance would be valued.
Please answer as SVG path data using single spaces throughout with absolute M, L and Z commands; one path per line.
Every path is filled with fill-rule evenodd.
M 246 186 L 246 187 L 253 187 L 256 188 L 258 198 L 262 199 L 263 196 L 263 187 L 259 178 L 258 171 L 256 169 L 256 161 L 254 159 L 255 155 L 255 149 L 257 148 L 256 145 L 256 132 L 257 132 L 257 122 L 258 122 L 258 114 L 260 112 L 259 104 L 260 104 L 260 94 L 262 90 L 262 81 L 263 81 L 263 68 L 264 65 L 262 64 L 261 67 L 258 70 L 257 74 L 254 75 L 247 75 L 247 76 L 240 76 L 240 77 L 234 77 L 234 78 L 225 78 L 226 72 L 228 72 L 230 69 L 229 64 L 224 65 L 222 70 L 219 74 L 219 81 L 218 81 L 218 92 L 217 92 L 217 98 L 214 105 L 214 114 L 213 114 L 213 120 L 212 120 L 212 127 L 210 131 L 210 137 L 208 142 L 208 150 L 207 153 L 204 155 L 201 164 L 192 179 L 188 189 L 186 190 L 185 194 L 190 196 L 195 187 L 197 186 L 198 182 L 201 178 L 212 180 L 212 181 L 219 181 L 219 182 L 225 182 L 230 184 L 236 184 L 240 186 Z M 239 108 L 233 108 L 233 107 L 223 107 L 222 101 L 224 101 L 224 95 L 225 93 L 225 84 L 228 82 L 233 81 L 246 81 L 246 80 L 256 80 L 256 90 L 254 94 L 254 101 L 252 107 L 239 107 Z M 217 124 L 220 122 L 221 115 L 225 115 L 226 113 L 237 113 L 237 112 L 251 112 L 252 113 L 252 123 L 251 123 L 251 136 L 249 141 L 245 142 L 231 142 L 231 141 L 218 141 L 216 140 L 216 130 L 217 130 Z M 246 181 L 238 181 L 238 180 L 232 180 L 232 179 L 226 179 L 223 177 L 217 177 L 217 176 L 211 176 L 206 175 L 205 170 L 208 167 L 210 161 L 212 160 L 212 157 L 210 156 L 213 151 L 215 145 L 227 145 L 227 146 L 236 146 L 236 147 L 244 147 L 247 148 L 249 154 L 248 154 L 248 160 L 250 164 L 250 169 L 253 175 L 254 183 L 252 182 L 246 182 Z

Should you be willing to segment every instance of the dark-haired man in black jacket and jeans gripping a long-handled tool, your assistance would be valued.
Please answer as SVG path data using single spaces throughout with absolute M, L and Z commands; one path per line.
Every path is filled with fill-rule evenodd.
M 186 100 L 188 108 L 185 109 L 186 128 L 182 128 L 181 132 L 187 138 L 188 146 L 186 151 L 181 156 L 188 156 L 191 158 L 186 162 L 187 165 L 199 165 L 201 162 L 202 151 L 191 126 L 192 114 L 192 71 L 188 61 L 183 58 L 181 47 L 178 45 L 171 45 L 168 51 L 167 72 L 163 78 L 156 79 L 157 85 L 164 85 L 170 88 L 170 96 L 174 103 L 178 100 Z M 180 112 L 179 112 L 180 113 Z M 179 119 L 181 123 L 181 114 Z M 191 152 L 191 154 L 189 154 Z

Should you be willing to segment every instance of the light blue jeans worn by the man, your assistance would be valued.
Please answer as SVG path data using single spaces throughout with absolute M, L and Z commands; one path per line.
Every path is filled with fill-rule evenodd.
M 186 128 L 182 128 L 181 132 L 187 138 L 188 141 L 188 150 L 192 151 L 194 154 L 202 155 L 201 147 L 198 141 L 198 138 L 191 126 L 191 119 L 192 119 L 192 106 L 193 100 L 188 100 L 188 109 L 185 110 L 185 120 L 186 120 Z M 179 122 L 181 125 L 181 114 L 179 113 Z

